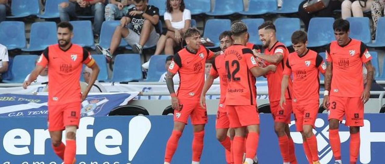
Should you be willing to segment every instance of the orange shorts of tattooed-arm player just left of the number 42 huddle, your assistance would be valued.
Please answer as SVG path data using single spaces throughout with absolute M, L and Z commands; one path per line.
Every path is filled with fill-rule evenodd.
M 174 110 L 174 121 L 187 124 L 189 116 L 191 117 L 192 125 L 200 125 L 207 123 L 207 111 L 201 107 L 199 100 L 181 100 L 179 104 L 182 105 L 182 109 Z

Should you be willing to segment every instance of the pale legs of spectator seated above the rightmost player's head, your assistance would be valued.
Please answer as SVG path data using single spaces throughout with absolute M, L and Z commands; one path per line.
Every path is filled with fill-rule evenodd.
M 341 5 L 342 19 L 352 17 L 363 17 L 363 12 L 370 11 L 373 0 L 344 0 Z

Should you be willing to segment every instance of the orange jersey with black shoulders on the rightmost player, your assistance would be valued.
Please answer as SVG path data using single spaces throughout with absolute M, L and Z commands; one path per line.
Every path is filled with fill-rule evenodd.
M 372 59 L 361 41 L 352 39 L 341 47 L 332 41 L 326 47 L 326 61 L 333 62 L 330 95 L 360 97 L 363 92 L 362 65 Z

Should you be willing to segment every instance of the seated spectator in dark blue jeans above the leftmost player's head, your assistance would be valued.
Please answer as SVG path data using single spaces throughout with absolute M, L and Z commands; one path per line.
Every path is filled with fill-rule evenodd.
M 93 15 L 94 36 L 99 38 L 104 21 L 104 4 L 106 0 L 69 0 L 59 5 L 60 21 L 70 21 L 70 16 Z

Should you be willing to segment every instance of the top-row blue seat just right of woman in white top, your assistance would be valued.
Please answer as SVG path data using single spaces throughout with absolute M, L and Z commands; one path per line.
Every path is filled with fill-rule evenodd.
M 191 15 L 208 13 L 211 10 L 209 0 L 184 0 L 184 5 L 191 11 Z

